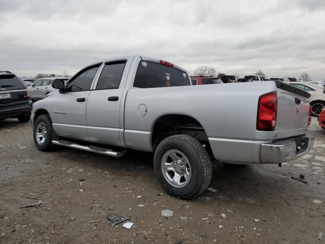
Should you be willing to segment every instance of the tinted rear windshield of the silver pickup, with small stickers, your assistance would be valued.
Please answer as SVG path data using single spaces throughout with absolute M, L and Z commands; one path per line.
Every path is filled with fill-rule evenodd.
M 152 88 L 189 85 L 187 74 L 181 70 L 153 62 L 141 61 L 134 87 Z

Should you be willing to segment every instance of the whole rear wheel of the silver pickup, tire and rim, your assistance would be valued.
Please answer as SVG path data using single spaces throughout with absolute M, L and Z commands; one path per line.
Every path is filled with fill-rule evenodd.
M 161 141 L 154 154 L 160 186 L 182 199 L 199 196 L 210 184 L 212 164 L 207 150 L 193 137 L 174 135 Z

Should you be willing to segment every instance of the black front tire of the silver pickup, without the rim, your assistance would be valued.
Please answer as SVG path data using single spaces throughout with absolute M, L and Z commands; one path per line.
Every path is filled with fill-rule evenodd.
M 39 140 L 37 139 L 37 133 L 41 131 L 41 129 L 39 129 L 38 127 L 41 124 L 44 125 L 46 129 L 46 136 L 43 143 L 40 143 Z M 36 119 L 32 133 L 33 133 L 34 143 L 39 150 L 51 151 L 55 148 L 55 145 L 52 144 L 52 130 L 53 130 L 52 120 L 50 115 L 43 114 Z

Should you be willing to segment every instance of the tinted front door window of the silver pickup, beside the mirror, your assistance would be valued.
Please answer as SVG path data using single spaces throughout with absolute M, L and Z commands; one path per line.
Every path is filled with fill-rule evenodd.
M 95 76 L 100 65 L 96 67 L 88 67 L 79 75 L 77 75 L 68 85 L 68 92 L 80 92 L 81 90 L 89 90 L 93 77 Z

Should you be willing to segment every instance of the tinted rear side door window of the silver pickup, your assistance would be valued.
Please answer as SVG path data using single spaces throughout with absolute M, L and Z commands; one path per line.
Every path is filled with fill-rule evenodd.
M 125 61 L 119 61 L 106 64 L 98 80 L 96 89 L 118 89 L 125 63 Z

